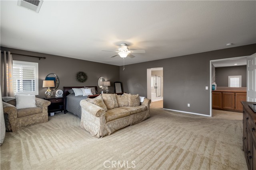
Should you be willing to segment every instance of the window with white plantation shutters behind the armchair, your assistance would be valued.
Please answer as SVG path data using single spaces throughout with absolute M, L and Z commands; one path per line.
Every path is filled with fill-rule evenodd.
M 13 61 L 12 74 L 15 94 L 38 95 L 38 63 Z

